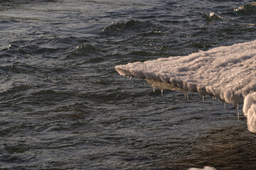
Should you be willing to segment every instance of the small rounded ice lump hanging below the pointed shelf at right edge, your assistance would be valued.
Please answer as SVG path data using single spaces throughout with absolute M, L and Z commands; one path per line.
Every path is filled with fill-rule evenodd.
M 256 92 L 245 97 L 242 112 L 247 118 L 247 128 L 250 132 L 256 132 Z

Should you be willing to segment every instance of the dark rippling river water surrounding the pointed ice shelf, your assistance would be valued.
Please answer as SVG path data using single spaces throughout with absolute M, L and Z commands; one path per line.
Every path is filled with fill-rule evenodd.
M 245 0 L 0 1 L 0 168 L 255 169 L 235 107 L 114 70 L 255 40 L 255 14 Z

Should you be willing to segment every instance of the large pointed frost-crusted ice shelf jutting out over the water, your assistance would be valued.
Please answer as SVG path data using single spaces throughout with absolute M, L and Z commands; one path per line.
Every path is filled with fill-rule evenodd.
M 146 79 L 151 86 L 161 90 L 208 94 L 233 106 L 243 103 L 245 96 L 249 95 L 250 103 L 256 103 L 256 94 L 253 93 L 256 91 L 256 40 L 215 47 L 188 56 L 117 65 L 115 69 L 125 77 Z M 256 112 L 256 106 L 247 108 L 243 112 L 248 118 L 249 113 Z

